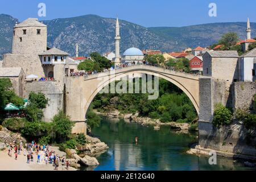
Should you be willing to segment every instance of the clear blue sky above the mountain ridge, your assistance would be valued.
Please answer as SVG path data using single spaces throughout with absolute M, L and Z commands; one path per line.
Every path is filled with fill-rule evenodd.
M 46 4 L 46 17 L 38 17 L 38 4 Z M 217 17 L 208 15 L 209 3 L 216 3 Z M 256 22 L 255 0 L 5 0 L 0 14 L 22 21 L 28 17 L 50 20 L 96 14 L 124 19 L 144 27 L 181 27 L 214 22 Z

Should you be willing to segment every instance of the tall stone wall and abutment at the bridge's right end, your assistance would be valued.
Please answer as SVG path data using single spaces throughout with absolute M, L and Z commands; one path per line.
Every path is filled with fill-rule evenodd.
M 226 91 L 229 88 L 229 92 Z M 214 127 L 214 106 L 218 103 L 233 109 L 251 108 L 256 94 L 256 82 L 234 82 L 227 85 L 212 77 L 200 78 L 199 145 L 216 151 L 256 156 L 256 139 L 248 142 L 250 133 L 241 123 Z

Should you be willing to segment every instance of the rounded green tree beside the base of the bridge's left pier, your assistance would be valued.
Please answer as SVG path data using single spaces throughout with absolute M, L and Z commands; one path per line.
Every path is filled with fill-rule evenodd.
M 56 131 L 56 139 L 59 141 L 67 140 L 71 135 L 73 127 L 73 123 L 69 117 L 63 111 L 59 111 L 52 120 L 54 130 Z

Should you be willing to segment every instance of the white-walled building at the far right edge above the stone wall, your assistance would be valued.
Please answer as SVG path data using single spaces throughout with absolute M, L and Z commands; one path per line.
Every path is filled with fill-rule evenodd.
M 256 48 L 239 58 L 239 81 L 255 81 Z

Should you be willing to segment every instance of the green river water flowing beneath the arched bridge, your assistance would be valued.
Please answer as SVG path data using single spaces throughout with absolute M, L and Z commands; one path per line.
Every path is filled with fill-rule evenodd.
M 175 134 L 170 127 L 155 131 L 152 126 L 103 118 L 100 127 L 94 128 L 92 134 L 108 144 L 109 150 L 97 158 L 100 165 L 90 170 L 254 170 L 245 167 L 241 160 L 217 156 L 217 165 L 210 165 L 210 156 L 186 154 L 189 145 L 197 141 L 197 133 Z M 138 144 L 135 137 L 138 137 Z

